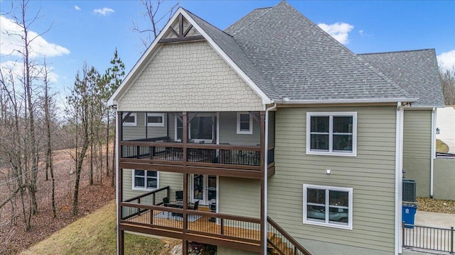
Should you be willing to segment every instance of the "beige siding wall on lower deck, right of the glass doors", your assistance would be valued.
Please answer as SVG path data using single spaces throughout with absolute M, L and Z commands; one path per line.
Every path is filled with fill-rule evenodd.
M 260 217 L 261 183 L 259 180 L 219 177 L 218 212 Z

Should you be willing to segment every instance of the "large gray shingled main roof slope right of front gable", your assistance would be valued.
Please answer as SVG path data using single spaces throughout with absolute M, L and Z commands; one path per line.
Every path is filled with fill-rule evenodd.
M 282 1 L 227 30 L 276 101 L 412 101 L 412 96 Z

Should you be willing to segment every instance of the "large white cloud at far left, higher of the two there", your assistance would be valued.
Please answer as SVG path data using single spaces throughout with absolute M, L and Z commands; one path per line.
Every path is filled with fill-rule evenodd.
M 23 41 L 21 35 L 23 31 L 13 20 L 0 16 L 0 55 L 22 56 Z M 60 45 L 47 42 L 38 33 L 28 31 L 30 43 L 30 57 L 47 56 L 54 57 L 70 54 L 70 50 Z

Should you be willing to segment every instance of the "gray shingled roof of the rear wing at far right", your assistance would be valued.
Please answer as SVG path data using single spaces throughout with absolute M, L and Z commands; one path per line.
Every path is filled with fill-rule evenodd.
M 412 96 L 419 98 L 417 102 L 412 103 L 412 107 L 444 107 L 434 49 L 380 52 L 359 56 L 380 69 Z

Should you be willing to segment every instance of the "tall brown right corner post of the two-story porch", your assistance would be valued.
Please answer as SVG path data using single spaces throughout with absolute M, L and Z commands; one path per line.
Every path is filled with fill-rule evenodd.
M 264 167 L 267 167 L 267 162 L 265 162 L 265 154 L 267 153 L 267 145 L 265 144 L 265 112 L 261 111 L 261 254 L 266 254 L 267 251 L 267 240 L 265 239 L 265 231 L 267 225 L 265 225 L 265 176 Z

